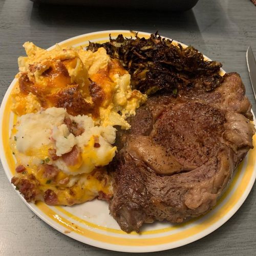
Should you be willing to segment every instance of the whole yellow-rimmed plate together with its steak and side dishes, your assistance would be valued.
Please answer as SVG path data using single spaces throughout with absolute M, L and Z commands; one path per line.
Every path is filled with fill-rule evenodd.
M 158 33 L 24 48 L 1 106 L 1 160 L 47 223 L 98 247 L 156 251 L 205 236 L 246 199 L 255 127 L 238 73 Z

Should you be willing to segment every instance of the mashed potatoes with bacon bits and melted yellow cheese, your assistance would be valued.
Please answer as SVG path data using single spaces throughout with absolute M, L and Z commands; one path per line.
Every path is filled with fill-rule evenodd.
M 67 118 L 69 122 L 63 123 Z M 65 133 L 54 137 L 53 131 L 60 127 Z M 80 127 L 82 133 L 75 136 L 72 127 Z M 18 172 L 13 184 L 28 201 L 54 205 L 92 200 L 100 191 L 111 197 L 110 178 L 103 166 L 115 155 L 114 138 L 112 126 L 95 126 L 91 117 L 73 117 L 65 109 L 18 117 L 10 139 Z M 53 150 L 54 156 L 50 154 Z

